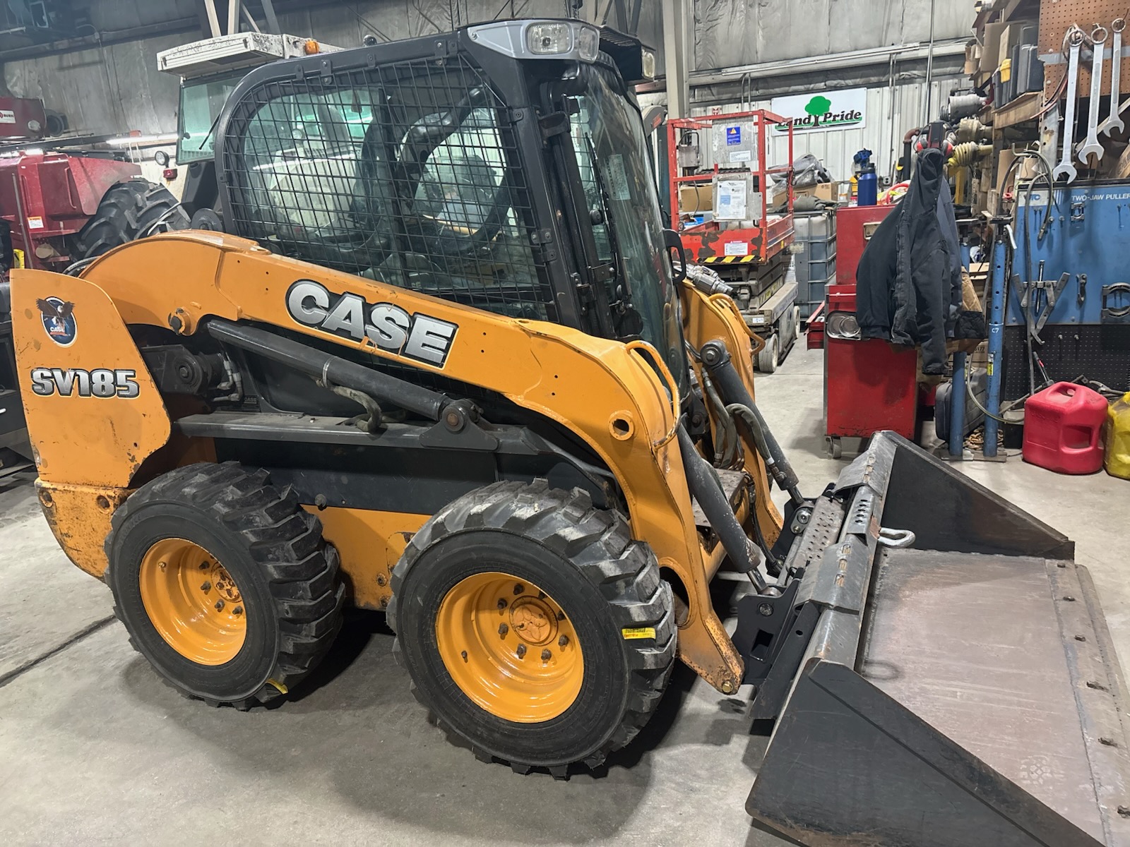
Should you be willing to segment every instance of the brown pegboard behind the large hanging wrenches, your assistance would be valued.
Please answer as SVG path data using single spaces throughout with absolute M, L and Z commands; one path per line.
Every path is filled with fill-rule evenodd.
M 1103 87 L 1102 93 L 1111 93 L 1111 45 L 1114 42 L 1114 33 L 1110 32 L 1111 24 L 1115 18 L 1130 18 L 1130 0 L 1040 0 L 1040 54 L 1060 53 L 1063 47 L 1063 36 L 1068 28 L 1077 24 L 1087 36 L 1099 24 L 1107 29 L 1106 43 L 1103 45 L 1106 51 L 1106 59 L 1103 61 Z M 1125 54 L 1130 47 L 1130 27 L 1122 32 L 1122 52 Z M 1089 53 L 1088 53 L 1089 55 Z M 1062 64 L 1044 66 L 1044 97 L 1051 97 L 1059 88 L 1063 76 L 1067 73 L 1067 62 Z M 1122 58 L 1122 73 L 1119 79 L 1121 90 L 1119 95 L 1125 99 L 1130 93 L 1130 58 Z M 1079 97 L 1087 97 L 1090 94 L 1090 62 L 1079 60 Z M 1106 114 L 1105 107 L 1102 113 Z

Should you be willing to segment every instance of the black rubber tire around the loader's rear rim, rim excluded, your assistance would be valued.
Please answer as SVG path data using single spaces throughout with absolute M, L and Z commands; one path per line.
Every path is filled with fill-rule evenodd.
M 114 513 L 112 527 L 104 579 L 114 613 L 134 649 L 189 697 L 238 708 L 275 699 L 318 665 L 341 628 L 345 585 L 337 550 L 289 489 L 269 484 L 267 471 L 235 462 L 180 468 L 134 491 Z M 146 612 L 141 561 L 167 538 L 207 550 L 243 595 L 245 640 L 224 664 L 186 658 Z

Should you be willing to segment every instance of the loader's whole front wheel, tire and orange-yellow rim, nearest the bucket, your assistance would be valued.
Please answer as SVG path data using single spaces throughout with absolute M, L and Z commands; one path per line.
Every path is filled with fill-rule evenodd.
M 676 653 L 671 587 L 581 489 L 497 482 L 441 509 L 392 571 L 393 654 L 484 760 L 565 778 L 632 741 Z

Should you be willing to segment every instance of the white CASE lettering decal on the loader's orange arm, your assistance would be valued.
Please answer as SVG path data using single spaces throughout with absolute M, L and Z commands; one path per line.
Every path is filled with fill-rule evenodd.
M 332 294 L 321 282 L 299 279 L 286 294 L 287 312 L 304 326 L 364 341 L 382 350 L 443 367 L 458 324 L 423 312 L 409 314 L 391 303 L 367 303 L 356 294 Z

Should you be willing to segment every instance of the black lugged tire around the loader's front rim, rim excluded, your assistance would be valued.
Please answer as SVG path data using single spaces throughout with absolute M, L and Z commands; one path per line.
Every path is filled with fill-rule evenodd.
M 548 593 L 576 628 L 584 652 L 580 693 L 564 714 L 538 724 L 506 721 L 454 683 L 438 653 L 437 608 L 476 571 L 503 571 Z M 671 587 L 651 549 L 633 541 L 624 516 L 592 506 L 581 489 L 545 481 L 497 482 L 441 509 L 412 538 L 392 571 L 393 652 L 417 698 L 479 758 L 520 772 L 603 763 L 651 717 L 676 655 Z M 625 630 L 654 628 L 653 638 Z

